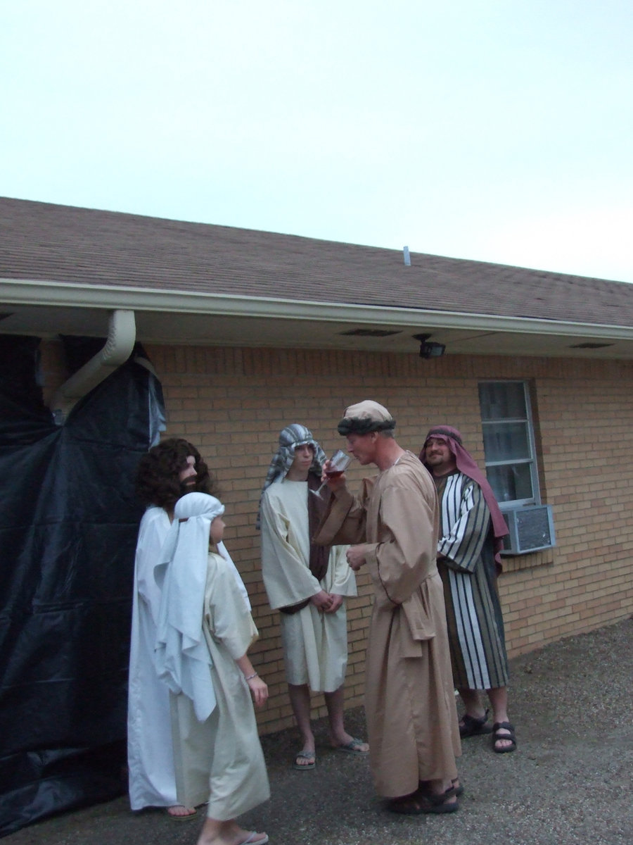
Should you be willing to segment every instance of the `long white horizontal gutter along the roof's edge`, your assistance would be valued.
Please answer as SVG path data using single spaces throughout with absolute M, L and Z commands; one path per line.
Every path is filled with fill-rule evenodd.
M 0 302 L 67 308 L 129 308 L 160 313 L 268 317 L 321 323 L 423 325 L 433 329 L 511 332 L 519 335 L 573 335 L 633 340 L 633 326 L 572 320 L 499 317 L 493 314 L 353 305 L 273 297 L 238 297 L 226 293 L 165 291 L 145 287 L 78 285 L 68 282 L 0 279 Z

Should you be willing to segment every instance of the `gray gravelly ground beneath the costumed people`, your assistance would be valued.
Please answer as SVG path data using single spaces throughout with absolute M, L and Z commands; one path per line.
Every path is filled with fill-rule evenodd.
M 327 747 L 294 771 L 295 731 L 264 737 L 273 797 L 241 817 L 272 845 L 630 845 L 633 842 L 633 621 L 578 635 L 511 662 L 518 750 L 490 737 L 463 743 L 466 791 L 452 815 L 392 815 L 374 795 L 368 761 Z M 360 709 L 347 727 L 365 735 Z M 121 798 L 26 827 L 7 845 L 195 845 L 200 823 L 133 814 Z

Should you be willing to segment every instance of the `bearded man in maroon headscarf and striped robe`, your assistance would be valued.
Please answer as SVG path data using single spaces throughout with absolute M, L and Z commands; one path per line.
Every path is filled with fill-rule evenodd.
M 508 660 L 496 583 L 506 521 L 457 428 L 431 428 L 419 460 L 433 476 L 441 501 L 437 568 L 444 585 L 453 681 L 465 710 L 459 733 L 469 737 L 492 731 L 493 750 L 505 754 L 517 748 L 507 714 Z M 482 690 L 492 706 L 492 728 Z

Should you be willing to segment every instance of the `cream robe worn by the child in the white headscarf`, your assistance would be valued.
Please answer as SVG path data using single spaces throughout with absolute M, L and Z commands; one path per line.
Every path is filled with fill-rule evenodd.
M 251 692 L 235 659 L 257 640 L 230 564 L 209 553 L 204 593 L 204 638 L 213 661 L 217 704 L 198 722 L 191 699 L 170 693 L 179 804 L 208 801 L 207 815 L 228 820 L 270 797 Z

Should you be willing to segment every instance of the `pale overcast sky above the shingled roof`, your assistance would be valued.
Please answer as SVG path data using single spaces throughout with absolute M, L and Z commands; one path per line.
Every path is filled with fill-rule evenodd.
M 631 0 L 5 0 L 0 194 L 633 282 L 632 57 Z

